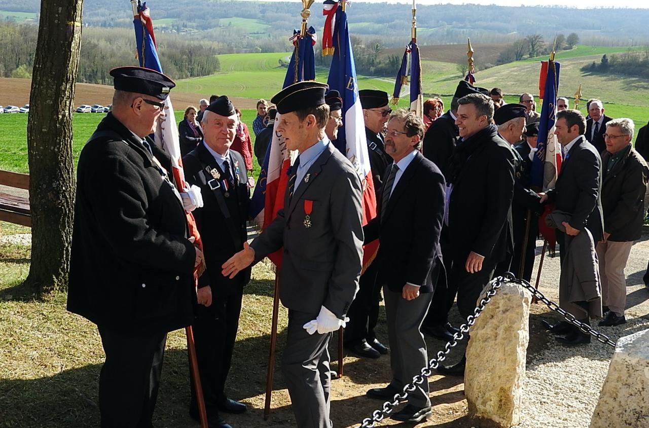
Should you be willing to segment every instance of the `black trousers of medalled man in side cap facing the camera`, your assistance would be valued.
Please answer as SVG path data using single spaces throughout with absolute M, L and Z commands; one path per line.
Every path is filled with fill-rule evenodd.
M 198 306 L 192 325 L 208 416 L 218 414 L 217 403 L 227 397 L 225 381 L 230 371 L 232 351 L 239 329 L 242 297 L 242 291 L 230 296 L 213 297 L 210 307 Z M 196 391 L 191 379 L 190 384 L 190 409 L 198 410 Z

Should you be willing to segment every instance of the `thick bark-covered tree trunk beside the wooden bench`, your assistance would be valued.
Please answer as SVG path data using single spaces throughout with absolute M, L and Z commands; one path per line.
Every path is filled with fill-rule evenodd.
M 67 289 L 75 177 L 72 111 L 83 0 L 42 0 L 27 120 L 32 258 L 27 285 Z

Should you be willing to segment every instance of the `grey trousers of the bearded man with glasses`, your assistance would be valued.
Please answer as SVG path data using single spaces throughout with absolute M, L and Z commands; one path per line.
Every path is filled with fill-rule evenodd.
M 423 293 L 406 300 L 401 293 L 383 288 L 386 299 L 387 337 L 390 345 L 390 386 L 402 390 L 421 369 L 428 365 L 428 353 L 421 323 L 426 318 L 432 293 Z M 417 407 L 430 406 L 428 379 L 408 394 L 408 403 Z

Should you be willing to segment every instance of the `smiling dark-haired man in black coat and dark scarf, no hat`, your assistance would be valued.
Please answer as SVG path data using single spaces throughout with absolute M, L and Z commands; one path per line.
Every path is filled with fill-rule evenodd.
M 493 125 L 493 101 L 482 94 L 459 99 L 459 136 L 447 171 L 447 225 L 452 237 L 445 260 L 458 285 L 462 318 L 473 314 L 483 288 L 511 248 L 515 155 Z M 439 373 L 463 375 L 466 359 Z

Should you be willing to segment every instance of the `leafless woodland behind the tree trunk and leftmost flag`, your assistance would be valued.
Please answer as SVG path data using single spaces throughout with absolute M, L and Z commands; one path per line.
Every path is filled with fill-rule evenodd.
M 38 27 L 0 22 L 0 77 L 31 77 Z M 160 34 L 158 53 L 164 72 L 173 79 L 206 76 L 219 71 L 219 45 Z M 110 69 L 138 65 L 135 34 L 128 29 L 87 27 L 82 31 L 79 82 L 110 83 Z

